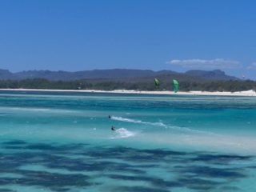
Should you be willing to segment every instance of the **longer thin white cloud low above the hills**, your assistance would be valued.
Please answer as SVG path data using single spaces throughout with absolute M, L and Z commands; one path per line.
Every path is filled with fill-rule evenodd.
M 225 60 L 223 58 L 215 59 L 184 59 L 178 60 L 174 59 L 167 62 L 170 65 L 182 66 L 187 68 L 204 68 L 204 69 L 235 69 L 241 68 L 242 64 L 238 61 Z

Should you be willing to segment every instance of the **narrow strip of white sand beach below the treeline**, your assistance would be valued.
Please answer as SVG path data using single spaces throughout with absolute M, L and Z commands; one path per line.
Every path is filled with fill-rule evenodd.
M 0 89 L 1 90 L 11 90 L 11 91 L 42 91 L 42 92 L 74 92 L 74 93 L 109 93 L 109 94 L 170 94 L 170 95 L 210 95 L 210 96 L 246 96 L 254 97 L 256 92 L 254 90 L 243 90 L 238 92 L 210 92 L 210 91 L 179 91 L 174 93 L 170 90 L 41 90 L 41 89 Z

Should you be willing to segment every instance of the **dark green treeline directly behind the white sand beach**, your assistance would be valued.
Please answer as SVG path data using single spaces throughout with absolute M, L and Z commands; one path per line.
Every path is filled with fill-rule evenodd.
M 256 82 L 246 81 L 204 81 L 179 82 L 180 90 L 202 91 L 242 91 L 256 90 Z M 154 81 L 121 81 L 119 80 L 77 80 L 77 81 L 49 81 L 42 78 L 25 80 L 0 80 L 0 89 L 49 89 L 49 90 L 173 90 L 170 82 L 160 82 L 158 89 Z

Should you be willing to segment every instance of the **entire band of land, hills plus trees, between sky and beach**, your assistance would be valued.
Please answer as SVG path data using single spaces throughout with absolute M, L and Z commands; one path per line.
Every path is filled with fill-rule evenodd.
M 158 78 L 160 86 L 154 86 Z M 2 79 L 2 80 L 1 80 Z M 172 80 L 180 90 L 240 91 L 256 90 L 256 82 L 242 81 L 221 70 L 87 70 L 78 72 L 31 70 L 10 73 L 0 70 L 0 88 L 53 90 L 173 90 Z

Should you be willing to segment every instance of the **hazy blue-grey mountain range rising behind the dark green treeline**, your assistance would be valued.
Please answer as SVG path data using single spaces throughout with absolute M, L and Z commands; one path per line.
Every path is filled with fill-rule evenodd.
M 222 70 L 188 70 L 185 73 L 178 73 L 172 70 L 83 70 L 76 72 L 50 71 L 50 70 L 27 70 L 12 73 L 9 70 L 0 70 L 0 80 L 22 80 L 33 78 L 44 78 L 51 81 L 74 81 L 81 79 L 137 79 L 137 78 L 178 78 L 180 81 L 201 81 L 201 80 L 239 80 L 239 78 L 226 75 Z

